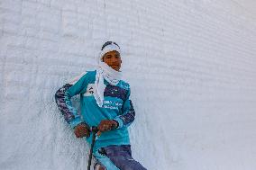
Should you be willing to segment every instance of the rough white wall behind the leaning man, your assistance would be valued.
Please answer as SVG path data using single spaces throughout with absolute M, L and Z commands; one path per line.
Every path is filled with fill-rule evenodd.
M 0 169 L 87 168 L 87 144 L 53 95 L 96 67 L 106 40 L 123 49 L 136 111 L 133 157 L 143 166 L 255 169 L 252 4 L 0 0 Z

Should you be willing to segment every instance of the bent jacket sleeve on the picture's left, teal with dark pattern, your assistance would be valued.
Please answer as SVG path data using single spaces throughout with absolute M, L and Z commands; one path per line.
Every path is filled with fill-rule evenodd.
M 79 123 L 83 122 L 78 114 L 78 110 L 73 107 L 71 103 L 71 97 L 80 94 L 84 88 L 87 88 L 86 75 L 79 78 L 76 83 L 73 82 L 63 85 L 55 94 L 57 106 L 59 107 L 61 114 L 64 116 L 65 121 L 69 123 L 71 128 L 74 128 Z

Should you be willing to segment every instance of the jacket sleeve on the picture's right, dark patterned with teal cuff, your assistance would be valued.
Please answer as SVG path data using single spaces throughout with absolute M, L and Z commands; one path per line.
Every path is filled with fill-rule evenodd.
M 135 119 L 135 111 L 133 109 L 133 103 L 130 100 L 130 88 L 126 96 L 126 100 L 123 103 L 123 114 L 114 118 L 114 121 L 118 122 L 117 129 L 130 126 Z

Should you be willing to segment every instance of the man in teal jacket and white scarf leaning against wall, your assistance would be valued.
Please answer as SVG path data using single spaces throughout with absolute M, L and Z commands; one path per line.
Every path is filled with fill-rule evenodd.
M 132 157 L 127 128 L 135 112 L 130 98 L 130 85 L 120 72 L 121 49 L 112 41 L 103 45 L 95 71 L 87 71 L 55 94 L 59 110 L 77 138 L 92 143 L 90 127 L 97 127 L 93 155 L 98 170 L 145 170 Z M 80 94 L 81 114 L 72 106 L 71 97 Z

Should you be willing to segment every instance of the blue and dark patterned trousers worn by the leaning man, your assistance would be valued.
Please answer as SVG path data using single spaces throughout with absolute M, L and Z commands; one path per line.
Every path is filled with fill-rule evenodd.
M 100 148 L 94 157 L 106 170 L 147 170 L 133 159 L 130 145 Z

